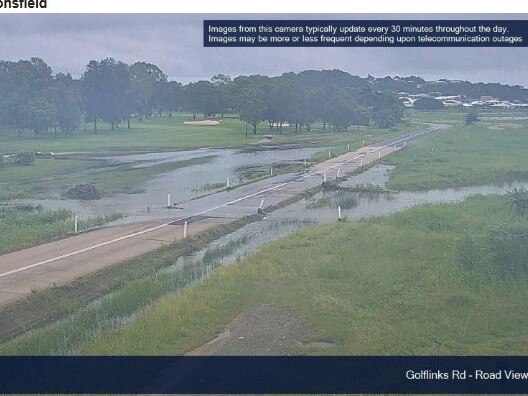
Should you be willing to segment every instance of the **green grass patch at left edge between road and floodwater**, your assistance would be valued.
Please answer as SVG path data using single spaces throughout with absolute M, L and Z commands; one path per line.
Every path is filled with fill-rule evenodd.
M 79 231 L 121 219 L 113 213 L 79 219 Z M 38 245 L 74 232 L 74 214 L 32 205 L 0 205 L 0 254 Z

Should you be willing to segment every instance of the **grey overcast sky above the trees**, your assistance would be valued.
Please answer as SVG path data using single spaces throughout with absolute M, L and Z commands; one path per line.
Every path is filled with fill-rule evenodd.
M 76 77 L 90 60 L 113 57 L 127 63 L 138 60 L 154 63 L 170 78 L 183 82 L 218 73 L 280 75 L 288 71 L 337 68 L 360 76 L 418 75 L 430 80 L 463 79 L 528 87 L 528 48 L 203 48 L 203 19 L 267 17 L 278 18 L 277 15 L 3 14 L 0 58 L 38 56 L 54 72 L 71 72 Z M 319 16 L 283 16 L 294 17 Z M 404 19 L 401 15 L 325 15 L 332 17 Z M 437 15 L 435 19 L 442 17 L 453 18 Z

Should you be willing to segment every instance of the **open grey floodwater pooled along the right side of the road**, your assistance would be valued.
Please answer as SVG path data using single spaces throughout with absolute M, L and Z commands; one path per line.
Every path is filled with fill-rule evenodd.
M 385 186 L 389 180 L 393 166 L 378 165 L 360 175 L 353 176 L 341 183 L 343 187 L 371 184 Z M 503 186 L 475 186 L 463 188 L 437 189 L 420 192 L 390 192 L 390 193 L 347 193 L 356 200 L 354 207 L 343 209 L 342 216 L 348 220 L 363 219 L 373 216 L 389 215 L 408 209 L 415 205 L 426 203 L 449 203 L 462 201 L 472 195 L 497 195 L 504 194 L 507 190 L 515 187 L 528 188 L 528 182 L 508 183 Z M 313 224 L 326 224 L 336 222 L 338 209 L 333 198 L 338 194 L 336 191 L 321 192 L 315 196 L 303 199 L 288 207 L 271 213 L 266 219 L 251 223 L 236 232 L 224 236 L 204 249 L 190 257 L 181 258 L 175 268 L 179 268 L 185 262 L 199 262 L 205 252 L 212 247 L 224 246 L 230 241 L 241 240 L 234 251 L 221 258 L 222 265 L 228 265 L 236 260 L 255 253 L 259 247 L 272 241 L 284 238 L 292 233 Z M 326 199 L 328 205 L 315 207 L 311 205 L 314 201 Z

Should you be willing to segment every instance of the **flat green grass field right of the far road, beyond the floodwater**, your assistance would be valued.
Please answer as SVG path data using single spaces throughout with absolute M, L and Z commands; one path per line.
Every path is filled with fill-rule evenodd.
M 458 124 L 383 160 L 395 190 L 501 184 L 528 179 L 528 123 Z

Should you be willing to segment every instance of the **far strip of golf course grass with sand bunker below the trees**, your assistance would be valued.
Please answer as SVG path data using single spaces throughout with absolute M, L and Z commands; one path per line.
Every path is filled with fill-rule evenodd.
M 172 118 L 152 117 L 143 122 L 134 121 L 132 128 L 122 126 L 111 131 L 108 125 L 100 123 L 100 129 L 94 134 L 88 130 L 78 129 L 71 136 L 55 139 L 53 137 L 35 139 L 27 132 L 22 137 L 11 129 L 0 130 L 0 152 L 14 153 L 21 150 L 42 152 L 86 152 L 86 151 L 171 151 L 200 147 L 242 146 L 254 144 L 262 135 L 270 133 L 266 122 L 259 124 L 258 133 L 251 131 L 245 137 L 245 124 L 236 117 L 223 118 L 218 126 L 184 125 L 192 116 L 177 114 Z M 400 132 L 414 130 L 411 125 L 400 126 Z M 301 145 L 320 144 L 333 146 L 354 144 L 356 139 L 367 139 L 369 142 L 394 136 L 394 130 L 368 130 L 362 127 L 359 131 L 351 128 L 348 132 L 332 132 L 331 128 L 322 130 L 322 125 L 314 124 L 311 132 L 295 133 L 294 128 L 284 128 L 283 134 L 273 131 L 273 143 L 298 143 Z M 402 133 L 403 133 L 402 132 Z

